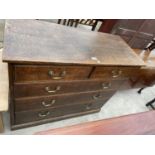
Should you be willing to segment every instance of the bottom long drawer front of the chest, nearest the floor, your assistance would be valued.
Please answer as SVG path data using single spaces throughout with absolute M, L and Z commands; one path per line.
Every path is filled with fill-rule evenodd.
M 90 103 L 80 104 L 80 105 L 53 108 L 50 110 L 16 112 L 15 122 L 16 124 L 20 124 L 20 123 L 39 121 L 39 120 L 49 119 L 49 118 L 55 119 L 60 117 L 61 119 L 64 116 L 69 114 L 76 114 L 76 113 L 87 112 L 95 109 L 100 109 L 105 102 L 106 101 L 104 102 L 102 101 L 99 103 L 90 102 Z

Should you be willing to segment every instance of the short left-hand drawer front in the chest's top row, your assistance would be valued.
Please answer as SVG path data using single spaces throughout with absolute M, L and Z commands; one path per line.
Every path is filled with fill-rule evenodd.
M 15 82 L 86 79 L 91 70 L 88 66 L 15 65 Z

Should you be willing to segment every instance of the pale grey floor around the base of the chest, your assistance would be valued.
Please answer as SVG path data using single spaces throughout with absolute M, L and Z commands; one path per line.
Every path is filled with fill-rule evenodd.
M 55 21 L 52 20 L 51 22 L 56 22 L 56 20 Z M 89 29 L 89 27 L 84 27 L 84 26 L 79 26 L 79 28 L 87 29 L 87 30 Z M 48 130 L 52 128 L 59 128 L 63 126 L 70 126 L 70 125 L 84 123 L 88 121 L 95 121 L 95 120 L 107 119 L 107 118 L 112 118 L 112 117 L 117 117 L 122 115 L 148 111 L 149 109 L 145 106 L 145 103 L 153 99 L 154 96 L 155 96 L 155 86 L 145 89 L 141 95 L 137 93 L 137 89 L 127 89 L 125 91 L 118 91 L 103 106 L 102 110 L 99 113 L 89 114 L 85 116 L 75 117 L 71 119 L 66 119 L 62 121 L 52 122 L 48 124 L 43 124 L 43 125 L 15 130 L 15 131 L 10 131 L 9 113 L 4 112 L 3 117 L 4 117 L 5 132 L 3 134 L 5 135 L 34 134 L 35 132 Z

